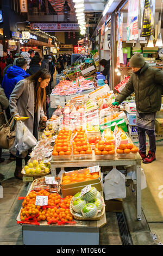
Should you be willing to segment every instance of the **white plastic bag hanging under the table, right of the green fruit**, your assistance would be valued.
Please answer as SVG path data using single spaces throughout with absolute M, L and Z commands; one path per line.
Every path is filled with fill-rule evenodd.
M 106 176 L 103 184 L 105 200 L 126 198 L 125 176 L 116 168 L 113 168 Z

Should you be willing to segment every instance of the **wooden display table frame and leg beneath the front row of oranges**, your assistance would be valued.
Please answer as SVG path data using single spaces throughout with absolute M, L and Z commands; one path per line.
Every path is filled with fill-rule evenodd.
M 56 176 L 56 168 L 64 170 L 66 167 L 91 167 L 91 166 L 134 166 L 136 170 L 136 198 L 137 198 L 137 220 L 141 220 L 141 157 L 139 153 L 136 154 L 135 159 L 118 159 L 114 160 L 96 160 L 95 154 L 92 154 L 92 159 L 87 160 L 62 160 L 51 161 L 52 176 Z M 126 179 L 131 179 L 127 176 Z

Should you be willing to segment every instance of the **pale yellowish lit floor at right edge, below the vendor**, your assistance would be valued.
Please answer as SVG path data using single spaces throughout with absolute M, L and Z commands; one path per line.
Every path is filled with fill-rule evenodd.
M 142 190 L 142 209 L 152 233 L 163 243 L 163 146 L 157 146 L 156 161 L 142 164 L 147 188 Z

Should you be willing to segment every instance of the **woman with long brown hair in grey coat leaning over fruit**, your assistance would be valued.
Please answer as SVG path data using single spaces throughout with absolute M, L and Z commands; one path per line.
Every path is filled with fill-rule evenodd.
M 46 87 L 51 80 L 51 74 L 48 70 L 42 69 L 34 75 L 19 81 L 10 95 L 10 113 L 16 117 L 29 117 L 24 124 L 38 139 L 39 121 L 47 121 L 43 105 L 46 101 Z M 29 152 L 28 152 L 29 155 Z M 24 159 L 27 164 L 29 157 Z M 22 159 L 16 157 L 15 177 L 22 179 Z

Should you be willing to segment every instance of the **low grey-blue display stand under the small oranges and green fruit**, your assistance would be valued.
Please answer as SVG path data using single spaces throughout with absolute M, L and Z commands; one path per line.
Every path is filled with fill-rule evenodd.
M 31 190 L 32 186 L 27 195 Z M 99 221 L 75 221 L 76 224 L 65 225 L 48 225 L 47 221 L 41 221 L 40 225 L 21 224 L 23 245 L 99 245 L 99 228 L 106 224 L 106 215 Z

